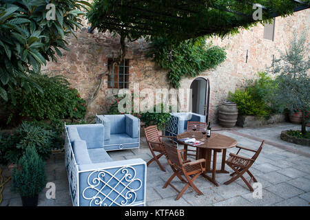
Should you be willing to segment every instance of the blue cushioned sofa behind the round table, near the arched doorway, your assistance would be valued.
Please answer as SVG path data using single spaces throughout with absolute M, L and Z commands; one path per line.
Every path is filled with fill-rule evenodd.
M 205 115 L 192 112 L 170 113 L 171 117 L 165 124 L 165 135 L 176 136 L 187 130 L 187 122 L 205 122 Z

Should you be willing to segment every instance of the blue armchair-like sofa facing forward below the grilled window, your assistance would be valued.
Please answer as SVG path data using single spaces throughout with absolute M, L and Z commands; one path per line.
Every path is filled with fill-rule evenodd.
M 133 115 L 96 115 L 96 123 L 105 126 L 106 151 L 140 146 L 140 119 Z

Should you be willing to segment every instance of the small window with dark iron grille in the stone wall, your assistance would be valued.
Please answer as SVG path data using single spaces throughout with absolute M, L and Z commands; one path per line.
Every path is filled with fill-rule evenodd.
M 121 61 L 120 65 L 112 65 L 112 58 L 108 59 L 110 75 L 107 77 L 107 87 L 112 89 L 129 88 L 129 60 Z

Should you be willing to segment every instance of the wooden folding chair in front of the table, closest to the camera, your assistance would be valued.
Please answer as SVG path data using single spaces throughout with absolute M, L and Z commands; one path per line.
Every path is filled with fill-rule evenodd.
M 198 190 L 198 188 L 195 186 L 194 180 L 205 171 L 205 167 L 203 166 L 205 159 L 198 159 L 193 162 L 190 160 L 186 161 L 184 158 L 184 149 L 178 150 L 174 146 L 171 146 L 167 143 L 163 143 L 163 146 L 165 148 L 165 154 L 168 163 L 174 171 L 174 174 L 167 180 L 163 188 L 167 188 L 167 186 L 170 185 L 172 188 L 174 188 L 174 190 L 179 192 L 176 200 L 182 197 L 183 193 L 189 186 L 192 186 L 198 195 L 203 195 L 203 192 Z M 182 177 L 182 175 L 185 176 L 186 180 Z M 180 181 L 183 181 L 186 184 L 185 187 L 180 191 L 171 184 L 172 179 L 174 179 L 176 176 L 178 179 L 180 179 Z

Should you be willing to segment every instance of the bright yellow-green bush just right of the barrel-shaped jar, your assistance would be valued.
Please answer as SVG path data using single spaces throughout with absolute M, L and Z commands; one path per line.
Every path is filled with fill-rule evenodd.
M 229 100 L 235 102 L 240 115 L 265 116 L 269 112 L 265 108 L 262 100 L 257 100 L 246 90 L 236 90 L 234 94 L 229 92 Z

